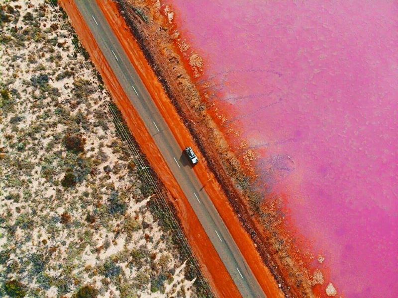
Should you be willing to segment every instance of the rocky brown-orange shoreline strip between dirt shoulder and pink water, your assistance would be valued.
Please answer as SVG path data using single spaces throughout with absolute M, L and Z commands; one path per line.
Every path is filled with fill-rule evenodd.
M 165 10 L 170 13 L 170 7 L 166 6 L 162 10 L 163 5 L 158 3 L 157 6 L 149 1 L 135 2 L 134 9 L 131 9 L 130 4 L 119 1 L 119 10 L 180 118 L 184 119 L 185 126 L 198 143 L 219 189 L 227 194 L 228 198 L 221 210 L 216 207 L 218 212 L 221 214 L 222 208 L 229 205 L 233 216 L 238 219 L 238 225 L 254 243 L 254 250 L 261 254 L 260 262 L 264 262 L 268 272 L 271 271 L 271 279 L 277 280 L 276 283 L 280 284 L 287 297 L 313 297 L 314 292 L 318 294 L 318 291 L 312 288 L 311 274 L 303 266 L 306 264 L 304 256 L 297 250 L 296 244 L 291 242 L 287 227 L 278 214 L 278 199 L 275 198 L 267 206 L 258 209 L 259 214 L 253 212 L 250 204 L 259 196 L 247 184 L 253 178 L 253 171 L 244 166 L 246 163 L 243 158 L 232 149 L 231 136 L 220 125 L 222 115 L 210 110 L 211 106 L 206 101 L 208 94 L 198 86 L 198 81 L 203 79 L 201 74 L 199 79 L 195 75 L 200 63 L 193 65 L 191 59 L 187 62 L 192 57 L 181 49 L 185 39 L 169 35 L 174 32 L 173 35 L 181 36 L 175 24 L 167 18 Z M 199 69 L 199 72 L 202 71 Z

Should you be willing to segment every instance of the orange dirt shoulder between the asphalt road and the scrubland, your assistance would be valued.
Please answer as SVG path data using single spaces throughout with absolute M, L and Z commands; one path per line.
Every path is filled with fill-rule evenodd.
M 117 107 L 120 109 L 133 137 L 141 145 L 140 148 L 142 152 L 146 155 L 152 168 L 156 173 L 158 173 L 160 180 L 169 191 L 170 201 L 176 208 L 177 216 L 181 220 L 184 233 L 188 238 L 194 254 L 199 260 L 199 265 L 204 276 L 207 277 L 211 288 L 218 297 L 241 297 L 225 266 L 211 244 L 210 239 L 199 223 L 194 210 L 171 173 L 166 161 L 163 159 L 152 137 L 146 130 L 144 123 L 132 107 L 127 95 L 124 93 L 123 88 L 117 81 L 109 64 L 100 51 L 94 36 L 76 7 L 74 0 L 60 0 L 60 4 L 68 13 L 72 25 L 74 26 L 84 47 L 89 52 L 97 70 L 100 72 L 105 86 L 110 92 Z M 103 2 L 102 4 L 110 4 L 110 2 Z M 101 5 L 101 7 L 103 8 L 105 6 Z M 114 6 L 110 7 L 116 11 Z M 115 23 L 113 23 L 113 25 L 115 25 Z M 127 31 L 125 31 L 125 33 L 127 33 Z M 129 39 L 131 43 L 132 37 L 129 36 Z M 152 72 L 150 69 L 148 70 L 149 66 L 143 67 L 146 62 L 142 54 L 139 56 L 140 52 L 138 52 L 138 46 L 136 46 L 136 49 L 137 52 L 135 52 L 136 56 L 134 57 L 140 57 L 142 60 L 140 61 L 140 64 L 135 65 L 135 67 L 139 70 L 140 74 L 143 75 L 142 78 L 147 84 L 149 82 L 156 84 L 157 79 L 150 75 Z M 129 53 L 131 57 L 132 52 Z M 155 88 L 155 90 L 151 89 L 151 91 L 153 93 L 153 91 L 158 92 L 159 90 Z

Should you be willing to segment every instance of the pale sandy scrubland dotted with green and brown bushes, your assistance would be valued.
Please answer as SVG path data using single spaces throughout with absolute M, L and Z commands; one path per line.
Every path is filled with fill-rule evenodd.
M 67 16 L 1 2 L 0 297 L 211 295 Z

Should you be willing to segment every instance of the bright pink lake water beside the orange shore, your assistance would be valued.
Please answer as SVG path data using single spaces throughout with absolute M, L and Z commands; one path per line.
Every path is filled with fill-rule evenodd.
M 339 293 L 398 297 L 398 3 L 168 2 Z

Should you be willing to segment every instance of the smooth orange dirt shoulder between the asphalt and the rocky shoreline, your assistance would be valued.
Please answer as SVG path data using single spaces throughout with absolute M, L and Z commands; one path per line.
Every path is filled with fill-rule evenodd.
M 155 104 L 166 119 L 166 122 L 181 149 L 184 149 L 187 146 L 192 146 L 196 152 L 200 152 L 200 150 L 194 145 L 195 142 L 190 132 L 184 126 L 173 103 L 165 93 L 162 84 L 157 79 L 153 70 L 147 63 L 139 45 L 131 35 L 123 17 L 119 14 L 116 4 L 112 1 L 103 0 L 97 0 L 97 3 L 111 25 L 114 34 L 126 51 L 131 63 L 134 65 L 134 68 L 145 83 L 145 86 L 150 92 Z M 199 158 L 200 157 L 201 156 L 199 156 Z M 222 220 L 232 234 L 263 291 L 268 297 L 283 297 L 282 291 L 279 290 L 274 277 L 262 261 L 262 258 L 257 252 L 249 234 L 240 224 L 238 217 L 230 206 L 229 201 L 215 179 L 215 176 L 208 168 L 206 162 L 203 162 L 203 158 L 201 158 L 201 160 L 202 162 L 195 166 L 194 170 L 200 182 L 204 185 L 206 192 L 212 199 Z M 184 219 L 182 220 L 184 221 Z

